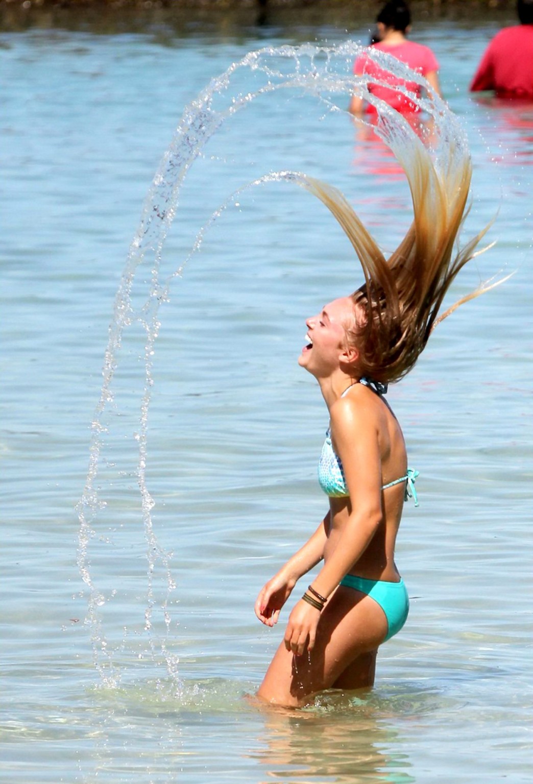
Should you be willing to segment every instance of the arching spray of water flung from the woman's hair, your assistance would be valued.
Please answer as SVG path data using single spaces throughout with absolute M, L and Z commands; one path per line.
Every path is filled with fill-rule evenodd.
M 106 541 L 103 535 L 102 518 L 107 501 L 102 497 L 99 475 L 103 463 L 112 470 L 118 470 L 111 459 L 107 458 L 106 450 L 109 443 L 114 440 L 114 423 L 111 415 L 119 413 L 117 387 L 120 387 L 118 369 L 121 347 L 126 330 L 134 328 L 140 330 L 142 336 L 144 365 L 139 423 L 134 434 L 136 466 L 130 471 L 122 470 L 118 473 L 121 476 L 129 475 L 135 478 L 139 489 L 140 507 L 138 512 L 132 513 L 132 517 L 135 518 L 140 513 L 143 520 L 147 568 L 146 608 L 143 630 L 137 634 L 147 641 L 150 659 L 153 662 L 165 662 L 170 677 L 179 684 L 178 659 L 169 652 L 167 646 L 172 622 L 169 601 L 176 584 L 171 572 L 172 556 L 160 545 L 154 532 L 152 510 L 155 502 L 147 481 L 148 417 L 154 386 L 153 362 L 161 326 L 161 306 L 169 299 L 172 281 L 183 273 L 187 260 L 198 252 L 205 231 L 219 218 L 228 204 L 234 203 L 241 190 L 231 194 L 212 214 L 205 226 L 198 230 L 183 263 L 167 277 L 161 276 L 162 251 L 172 220 L 179 208 L 183 182 L 213 134 L 234 114 L 248 107 L 254 100 L 278 90 L 313 96 L 317 101 L 318 111 L 326 113 L 346 111 L 339 102 L 346 104 L 347 96 L 356 94 L 371 103 L 379 113 L 377 125 L 369 125 L 368 122 L 361 121 L 362 124 L 369 125 L 372 132 L 375 132 L 391 148 L 404 166 L 408 166 L 409 156 L 422 143 L 431 145 L 437 168 L 440 166 L 443 171 L 449 167 L 461 166 L 465 156 L 468 155 L 466 136 L 459 122 L 446 104 L 431 91 L 425 96 L 417 97 L 401 85 L 397 87 L 432 121 L 432 127 L 426 132 L 426 138 L 422 133 L 423 141 L 405 118 L 370 93 L 366 79 L 356 77 L 351 72 L 354 58 L 361 54 L 361 50 L 361 46 L 346 42 L 335 47 L 310 44 L 299 47 L 288 45 L 279 48 L 267 47 L 248 53 L 242 60 L 232 64 L 225 73 L 214 78 L 185 109 L 172 143 L 154 176 L 114 299 L 114 314 L 103 362 L 102 389 L 91 423 L 89 471 L 82 498 L 77 505 L 80 521 L 78 567 L 88 592 L 86 623 L 91 633 L 96 668 L 103 684 L 107 687 L 114 688 L 121 681 L 121 665 L 118 659 L 124 655 L 129 630 L 125 629 L 121 645 L 113 648 L 108 643 L 108 634 L 103 623 L 103 610 L 112 600 L 114 591 L 106 593 L 99 587 L 98 580 L 93 576 L 92 543 L 100 541 L 105 545 Z M 428 89 L 421 76 L 413 74 L 392 56 L 378 52 L 373 52 L 370 56 L 379 62 L 382 69 L 397 78 L 416 82 L 422 88 Z M 239 89 L 243 76 L 245 89 Z M 381 83 L 390 86 L 388 82 Z M 269 172 L 244 187 L 273 180 L 308 187 L 306 175 L 299 172 Z M 134 292 L 134 283 L 139 281 L 139 278 L 141 280 L 137 282 L 137 286 L 140 295 L 137 295 Z M 119 390 L 118 397 L 120 394 Z M 131 452 L 134 447 L 130 444 L 127 448 Z M 114 514 L 120 514 L 120 510 L 118 512 L 115 510 Z M 154 591 L 154 579 L 159 573 L 165 583 L 161 601 L 158 601 Z M 155 630 L 156 615 L 159 622 L 162 619 L 162 633 L 157 633 Z M 139 659 L 142 659 L 143 655 L 141 651 L 138 655 Z

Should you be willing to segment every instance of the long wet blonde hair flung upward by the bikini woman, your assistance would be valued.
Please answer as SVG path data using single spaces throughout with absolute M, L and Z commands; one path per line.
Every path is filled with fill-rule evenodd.
M 477 255 L 477 243 L 488 227 L 454 255 L 470 191 L 470 154 L 450 140 L 447 158 L 435 162 L 422 142 L 416 142 L 411 137 L 408 147 L 397 146 L 400 154 L 394 150 L 408 178 L 414 220 L 388 260 L 340 191 L 307 176 L 301 183 L 331 210 L 361 262 L 364 284 L 353 295 L 354 325 L 347 328 L 347 336 L 360 350 L 361 375 L 382 383 L 405 376 L 433 327 L 460 304 L 491 288 L 480 286 L 439 316 L 452 281 Z M 364 317 L 356 319 L 361 308 Z

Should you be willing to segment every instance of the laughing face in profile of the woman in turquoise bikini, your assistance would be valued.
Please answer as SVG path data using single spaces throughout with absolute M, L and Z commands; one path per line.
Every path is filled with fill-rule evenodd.
M 346 328 L 354 323 L 354 302 L 345 296 L 325 305 L 306 321 L 306 345 L 298 363 L 314 376 L 325 376 L 339 367 L 346 348 Z

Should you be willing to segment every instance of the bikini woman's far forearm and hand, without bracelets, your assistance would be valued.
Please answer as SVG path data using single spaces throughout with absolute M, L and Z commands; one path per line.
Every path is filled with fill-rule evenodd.
M 300 547 L 298 552 L 289 558 L 279 572 L 259 591 L 255 611 L 259 620 L 266 626 L 274 626 L 274 623 L 277 623 L 280 610 L 299 578 L 324 557 L 328 529 L 329 512 L 303 547 Z

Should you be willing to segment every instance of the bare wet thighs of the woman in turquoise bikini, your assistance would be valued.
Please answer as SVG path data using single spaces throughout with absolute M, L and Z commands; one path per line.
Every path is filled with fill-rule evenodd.
M 295 656 L 282 642 L 259 687 L 259 698 L 296 707 L 325 688 L 372 685 L 375 652 L 387 629 L 379 604 L 339 586 L 322 611 L 313 651 Z

